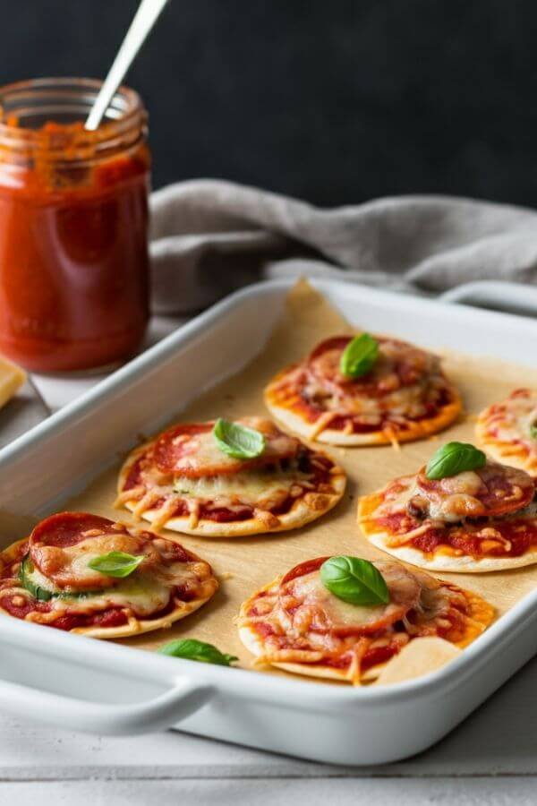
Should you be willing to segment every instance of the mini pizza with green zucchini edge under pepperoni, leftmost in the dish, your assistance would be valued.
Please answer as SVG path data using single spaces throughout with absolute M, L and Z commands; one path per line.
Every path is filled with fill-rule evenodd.
M 0 612 L 93 638 L 169 627 L 217 587 L 182 545 L 86 512 L 52 515 L 0 553 Z

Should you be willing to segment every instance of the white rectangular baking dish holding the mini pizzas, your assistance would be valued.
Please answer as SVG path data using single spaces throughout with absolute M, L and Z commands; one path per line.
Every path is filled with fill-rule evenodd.
M 523 317 L 343 282 L 313 284 L 366 329 L 535 363 L 537 322 Z M 103 459 L 113 463 L 137 433 L 156 430 L 248 362 L 277 322 L 288 288 L 269 282 L 230 296 L 0 451 L 2 509 L 42 516 L 61 507 L 102 471 Z M 497 287 L 476 290 L 491 303 L 510 294 L 507 286 L 500 295 Z M 96 733 L 176 726 L 306 759 L 378 764 L 439 740 L 533 656 L 537 591 L 444 669 L 378 689 L 196 664 L 8 616 L 0 616 L 0 640 L 0 705 L 20 716 Z

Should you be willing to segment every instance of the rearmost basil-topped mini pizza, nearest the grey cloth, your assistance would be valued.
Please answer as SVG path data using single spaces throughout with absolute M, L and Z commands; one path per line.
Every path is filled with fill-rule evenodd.
M 353 361 L 355 346 L 362 355 Z M 446 428 L 461 411 L 437 356 L 369 334 L 321 342 L 301 364 L 277 374 L 265 402 L 295 433 L 333 445 L 419 440 Z

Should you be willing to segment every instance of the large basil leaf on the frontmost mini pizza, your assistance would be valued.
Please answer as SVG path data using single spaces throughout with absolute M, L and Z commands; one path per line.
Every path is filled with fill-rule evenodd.
M 330 557 L 320 566 L 320 581 L 330 593 L 349 604 L 367 607 L 389 602 L 384 577 L 372 562 L 359 557 Z

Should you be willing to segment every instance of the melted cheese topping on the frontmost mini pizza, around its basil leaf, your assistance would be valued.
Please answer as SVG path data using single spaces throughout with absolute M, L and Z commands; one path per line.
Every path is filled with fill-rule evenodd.
M 371 648 L 392 654 L 415 637 L 443 634 L 465 624 L 464 591 L 448 587 L 399 562 L 375 566 L 388 586 L 388 604 L 362 607 L 331 594 L 314 570 L 264 589 L 241 610 L 242 626 L 256 630 L 269 663 L 320 663 L 345 658 L 345 676 L 360 682 L 362 657 Z M 266 630 L 267 627 L 271 630 Z M 381 661 L 380 661 L 381 662 Z M 305 668 L 305 667 L 304 667 Z

